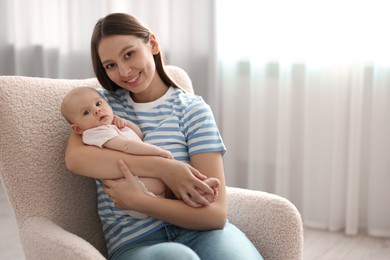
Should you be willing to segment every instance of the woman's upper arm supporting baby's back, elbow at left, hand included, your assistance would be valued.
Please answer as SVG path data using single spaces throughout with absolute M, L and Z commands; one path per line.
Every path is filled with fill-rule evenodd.
M 136 156 L 85 145 L 81 136 L 74 133 L 71 133 L 68 139 L 65 164 L 71 172 L 78 175 L 96 179 L 123 178 L 118 168 L 119 159 L 129 166 L 134 175 L 162 180 L 178 198 L 191 194 L 192 200 L 187 203 L 192 206 L 207 203 L 195 188 L 213 194 L 212 189 L 201 181 L 206 177 L 186 163 L 159 156 Z

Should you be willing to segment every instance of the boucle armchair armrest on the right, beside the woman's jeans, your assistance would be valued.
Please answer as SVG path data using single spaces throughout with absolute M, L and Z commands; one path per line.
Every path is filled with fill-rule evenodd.
M 280 196 L 227 188 L 228 219 L 239 227 L 264 259 L 302 259 L 303 224 L 296 207 Z

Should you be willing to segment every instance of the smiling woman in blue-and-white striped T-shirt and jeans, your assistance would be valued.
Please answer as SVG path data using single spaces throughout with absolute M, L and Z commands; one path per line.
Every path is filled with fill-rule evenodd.
M 156 37 L 135 17 L 110 14 L 94 28 L 91 53 L 105 88 L 101 93 L 115 114 L 137 123 L 145 142 L 170 150 L 176 159 L 86 146 L 70 136 L 68 168 L 102 180 L 98 211 L 110 259 L 261 259 L 226 221 L 225 147 L 210 107 L 167 76 Z M 162 180 L 178 200 L 147 196 L 133 174 Z M 206 176 L 221 182 L 213 203 L 202 196 L 213 192 L 202 182 Z M 150 217 L 133 219 L 121 209 Z

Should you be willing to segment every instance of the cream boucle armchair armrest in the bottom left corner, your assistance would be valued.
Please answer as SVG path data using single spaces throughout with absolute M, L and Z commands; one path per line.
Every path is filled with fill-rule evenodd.
M 46 218 L 29 218 L 20 230 L 26 259 L 106 259 L 86 240 Z

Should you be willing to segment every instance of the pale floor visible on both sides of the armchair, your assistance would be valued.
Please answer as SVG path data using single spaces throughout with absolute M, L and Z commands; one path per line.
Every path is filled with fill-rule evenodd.
M 16 221 L 0 184 L 0 259 L 23 260 Z M 305 229 L 304 260 L 390 260 L 390 238 Z

